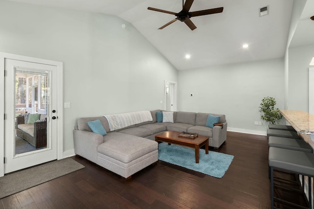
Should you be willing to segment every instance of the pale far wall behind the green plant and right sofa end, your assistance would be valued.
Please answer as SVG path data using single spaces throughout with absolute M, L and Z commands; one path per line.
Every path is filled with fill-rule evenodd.
M 178 110 L 225 114 L 228 130 L 264 135 L 262 98 L 272 96 L 284 108 L 284 58 L 179 71 L 178 87 Z

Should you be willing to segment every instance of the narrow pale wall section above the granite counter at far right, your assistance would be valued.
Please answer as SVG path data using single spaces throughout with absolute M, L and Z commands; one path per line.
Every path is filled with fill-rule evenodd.
M 309 112 L 309 67 L 314 45 L 289 48 L 288 110 Z

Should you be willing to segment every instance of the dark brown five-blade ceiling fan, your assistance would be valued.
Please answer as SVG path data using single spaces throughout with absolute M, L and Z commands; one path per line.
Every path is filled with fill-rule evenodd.
M 156 8 L 152 8 L 152 7 L 148 7 L 147 9 L 177 16 L 176 19 L 174 19 L 174 20 L 170 21 L 169 23 L 159 27 L 158 29 L 162 29 L 162 28 L 168 26 L 169 24 L 174 23 L 177 20 L 180 20 L 181 22 L 184 22 L 191 30 L 194 30 L 196 28 L 195 24 L 192 23 L 192 21 L 190 20 L 191 17 L 221 13 L 224 9 L 223 7 L 219 7 L 219 8 L 214 8 L 214 9 L 205 9 L 205 10 L 200 10 L 200 11 L 195 11 L 195 12 L 189 12 L 193 1 L 194 0 L 185 0 L 185 3 L 183 4 L 184 0 L 182 0 L 182 11 L 179 13 L 170 12 L 170 11 L 166 11 L 166 10 L 162 10 L 162 9 L 156 9 Z

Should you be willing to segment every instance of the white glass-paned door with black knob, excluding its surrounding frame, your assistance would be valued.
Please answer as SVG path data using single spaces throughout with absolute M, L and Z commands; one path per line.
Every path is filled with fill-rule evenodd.
M 6 75 L 4 77 L 4 173 L 20 170 L 26 167 L 49 162 L 57 159 L 57 67 L 34 62 L 26 62 L 15 59 L 4 59 Z M 44 130 L 46 133 L 42 139 L 45 144 L 31 151 L 17 153 L 17 139 L 27 142 L 27 137 L 17 136 L 17 116 L 24 115 L 20 111 L 24 107 L 16 104 L 17 76 L 26 75 L 26 79 L 32 81 L 27 85 L 29 103 L 27 107 L 30 115 L 41 113 L 42 117 L 38 120 L 46 120 Z M 38 91 L 38 86 L 40 91 Z M 25 92 L 26 92 L 25 88 Z M 38 99 L 40 98 L 40 99 Z M 38 100 L 44 100 L 38 104 Z M 25 107 L 26 110 L 26 107 Z M 19 112 L 19 113 L 18 113 Z M 30 116 L 29 116 L 30 117 Z M 46 118 L 46 119 L 45 119 Z M 33 124 L 28 126 L 34 127 Z M 42 127 L 43 128 L 43 127 Z M 28 131 L 28 130 L 27 130 Z M 26 132 L 26 131 L 25 131 Z M 20 132 L 19 132 L 20 133 Z M 24 132 L 22 132 L 24 133 Z M 42 132 L 41 134 L 43 134 Z M 33 134 L 35 135 L 35 133 Z M 38 136 L 37 136 L 38 137 Z M 29 141 L 29 140 L 28 140 Z

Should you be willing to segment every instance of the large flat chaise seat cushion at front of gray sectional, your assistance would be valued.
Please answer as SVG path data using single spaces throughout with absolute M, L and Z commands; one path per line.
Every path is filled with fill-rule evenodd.
M 130 163 L 158 149 L 156 141 L 118 132 L 108 133 L 104 139 L 105 142 L 97 147 L 98 152 L 123 163 Z

